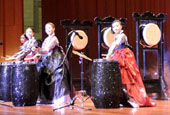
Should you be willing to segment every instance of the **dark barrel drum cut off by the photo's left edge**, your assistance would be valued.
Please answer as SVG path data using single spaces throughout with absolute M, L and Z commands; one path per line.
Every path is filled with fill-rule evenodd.
M 0 64 L 0 99 L 11 101 L 13 63 L 3 62 Z

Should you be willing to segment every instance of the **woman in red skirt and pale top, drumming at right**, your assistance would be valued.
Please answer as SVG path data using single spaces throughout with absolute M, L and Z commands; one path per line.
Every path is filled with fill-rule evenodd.
M 111 24 L 111 30 L 116 35 L 108 50 L 106 59 L 118 60 L 121 71 L 123 93 L 126 96 L 123 104 L 132 107 L 155 106 L 146 94 L 146 90 L 136 64 L 135 56 L 128 44 L 127 36 L 123 33 L 119 20 Z

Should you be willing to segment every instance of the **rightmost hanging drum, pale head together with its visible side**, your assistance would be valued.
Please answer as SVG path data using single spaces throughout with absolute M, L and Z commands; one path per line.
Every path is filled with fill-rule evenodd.
M 139 28 L 142 36 L 141 44 L 143 46 L 152 47 L 159 43 L 161 39 L 161 31 L 157 24 L 142 24 Z

